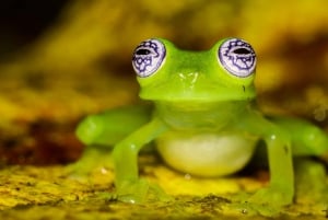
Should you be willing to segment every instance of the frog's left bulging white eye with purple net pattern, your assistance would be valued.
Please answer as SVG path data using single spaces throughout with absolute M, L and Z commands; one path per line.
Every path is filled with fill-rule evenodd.
M 145 78 L 153 74 L 165 59 L 165 46 L 159 39 L 148 39 L 137 46 L 132 56 L 136 73 Z

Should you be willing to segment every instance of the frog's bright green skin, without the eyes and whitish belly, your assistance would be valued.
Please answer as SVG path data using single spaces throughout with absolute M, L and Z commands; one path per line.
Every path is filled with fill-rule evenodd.
M 112 157 L 118 199 L 140 202 L 145 198 L 148 184 L 139 178 L 137 161 L 139 151 L 147 143 L 155 141 L 164 144 L 165 151 L 165 144 L 175 143 L 175 140 L 192 139 L 194 135 L 200 135 L 203 139 L 210 135 L 211 138 L 229 137 L 229 148 L 238 142 L 236 139 L 248 141 L 247 148 L 235 151 L 238 155 L 247 154 L 246 158 L 253 154 L 254 148 L 250 146 L 263 140 L 269 159 L 270 185 L 250 196 L 249 201 L 277 206 L 291 204 L 294 196 L 292 157 L 327 155 L 327 135 L 307 121 L 286 117 L 268 119 L 256 109 L 253 104 L 256 97 L 255 76 L 237 78 L 227 74 L 218 65 L 216 51 L 222 40 L 210 50 L 197 53 L 180 50 L 166 39 L 160 40 L 166 48 L 165 63 L 149 78 L 138 77 L 140 97 L 152 101 L 153 109 L 137 106 L 91 115 L 77 130 L 85 144 L 114 146 Z M 172 141 L 167 143 L 167 140 Z M 187 143 L 188 153 L 192 154 L 196 146 L 192 141 Z M 201 148 L 191 158 L 197 158 L 199 151 Z M 164 160 L 178 161 L 180 155 L 172 152 L 168 149 Z M 218 167 L 222 174 L 243 167 L 243 164 L 224 163 L 227 164 L 226 173 Z M 191 170 L 187 167 L 187 171 L 192 174 L 192 164 L 188 165 Z M 186 167 L 179 169 L 178 163 L 176 166 L 186 171 Z M 211 172 L 204 176 L 214 176 L 215 166 L 211 165 L 209 170 Z M 199 174 L 197 171 L 196 175 Z

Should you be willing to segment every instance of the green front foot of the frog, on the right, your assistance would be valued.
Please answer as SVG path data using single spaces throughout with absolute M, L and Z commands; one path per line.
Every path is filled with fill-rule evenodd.
M 282 207 L 293 202 L 293 190 L 283 187 L 267 187 L 256 192 L 248 198 L 248 202 Z

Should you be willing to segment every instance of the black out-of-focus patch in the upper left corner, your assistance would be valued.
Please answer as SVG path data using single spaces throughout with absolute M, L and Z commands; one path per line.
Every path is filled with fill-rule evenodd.
M 0 3 L 0 58 L 37 39 L 68 1 L 3 0 Z

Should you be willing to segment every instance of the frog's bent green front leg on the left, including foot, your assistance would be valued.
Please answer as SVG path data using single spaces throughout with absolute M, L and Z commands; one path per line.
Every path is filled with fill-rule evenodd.
M 144 201 L 149 193 L 162 196 L 159 187 L 150 186 L 145 180 L 139 178 L 138 153 L 166 129 L 162 120 L 154 118 L 114 147 L 115 197 L 119 200 L 134 204 Z

